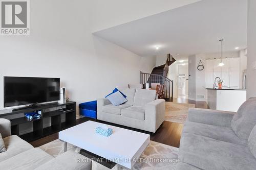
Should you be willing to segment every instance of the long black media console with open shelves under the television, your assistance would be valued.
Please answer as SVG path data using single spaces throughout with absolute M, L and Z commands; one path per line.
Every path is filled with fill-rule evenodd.
M 53 133 L 59 132 L 61 130 L 75 126 L 76 125 L 76 102 L 67 101 L 64 104 L 54 103 L 50 105 L 39 105 L 39 106 L 33 106 L 30 108 L 26 108 L 23 110 L 16 110 L 16 111 L 12 111 L 12 109 L 0 110 L 0 118 L 6 118 L 6 117 L 10 117 L 10 115 L 15 116 L 17 114 L 33 112 L 37 110 L 45 110 L 45 109 L 51 109 L 51 108 L 54 109 L 54 108 L 63 107 L 63 106 L 66 106 L 68 111 L 62 112 L 59 110 L 54 110 L 54 111 L 42 112 L 41 118 L 38 118 L 38 119 L 29 120 L 25 116 L 18 117 L 18 118 L 8 118 L 11 121 L 11 134 L 18 135 L 20 138 L 28 142 L 31 142 L 31 141 L 40 139 L 42 137 L 51 135 Z M 62 114 L 65 114 L 66 121 L 61 123 Z M 48 117 L 51 117 L 51 126 L 44 128 L 43 127 L 44 121 L 46 121 L 46 118 Z M 33 132 L 19 135 L 19 125 L 26 124 L 29 122 L 33 123 Z

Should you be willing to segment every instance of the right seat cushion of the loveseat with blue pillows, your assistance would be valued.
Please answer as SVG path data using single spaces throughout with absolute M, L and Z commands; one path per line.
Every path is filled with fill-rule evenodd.
M 122 116 L 145 120 L 145 108 L 141 106 L 132 106 L 122 109 Z

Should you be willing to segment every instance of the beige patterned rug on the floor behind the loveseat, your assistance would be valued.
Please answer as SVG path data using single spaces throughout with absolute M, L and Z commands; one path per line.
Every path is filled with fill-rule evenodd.
M 165 120 L 184 124 L 189 108 L 195 108 L 195 104 L 165 102 Z

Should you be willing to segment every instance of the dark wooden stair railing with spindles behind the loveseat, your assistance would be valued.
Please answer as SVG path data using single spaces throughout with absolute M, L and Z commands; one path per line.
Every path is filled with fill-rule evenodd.
M 152 83 L 164 84 L 164 97 L 165 98 L 173 98 L 174 82 L 173 82 L 173 80 L 170 80 L 167 77 L 140 71 L 140 83 L 143 85 L 145 83 L 148 83 L 150 88 L 151 88 Z M 172 87 L 172 89 L 171 89 L 171 87 Z M 172 92 L 172 95 L 170 95 L 170 92 Z

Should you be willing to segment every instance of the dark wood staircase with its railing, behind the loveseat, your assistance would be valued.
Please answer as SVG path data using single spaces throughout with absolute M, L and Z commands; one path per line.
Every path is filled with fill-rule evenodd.
M 167 54 L 167 60 L 165 64 L 155 67 L 152 73 L 145 73 L 140 71 L 140 83 L 148 83 L 151 87 L 151 83 L 164 84 L 164 96 L 165 98 L 173 98 L 173 81 L 167 78 L 169 66 L 173 64 L 176 60 L 172 55 Z M 172 87 L 172 89 L 170 89 Z M 170 95 L 172 91 L 172 96 Z

